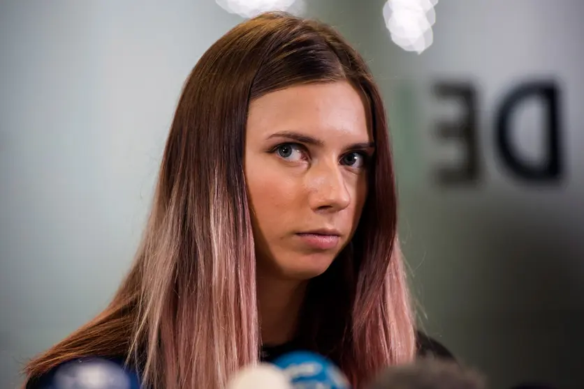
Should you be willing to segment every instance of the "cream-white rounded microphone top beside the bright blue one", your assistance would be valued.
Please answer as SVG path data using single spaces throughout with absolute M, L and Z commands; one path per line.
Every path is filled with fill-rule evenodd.
M 227 383 L 226 389 L 293 389 L 282 369 L 261 363 L 244 367 Z

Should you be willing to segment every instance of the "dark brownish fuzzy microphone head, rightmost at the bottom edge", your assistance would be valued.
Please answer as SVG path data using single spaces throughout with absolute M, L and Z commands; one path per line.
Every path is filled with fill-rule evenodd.
M 388 367 L 367 389 L 485 389 L 483 377 L 458 363 L 423 358 Z

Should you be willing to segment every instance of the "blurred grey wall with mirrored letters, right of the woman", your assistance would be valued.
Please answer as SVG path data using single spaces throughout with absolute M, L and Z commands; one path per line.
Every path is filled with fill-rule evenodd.
M 436 7 L 434 44 L 418 56 L 390 45 L 382 1 L 363 12 L 361 43 L 390 100 L 401 189 L 402 237 L 427 328 L 492 388 L 520 381 L 582 388 L 584 359 L 584 15 L 581 1 L 456 1 Z M 369 20 L 367 23 L 366 21 Z M 368 32 L 365 32 L 368 31 Z M 365 40 L 365 36 L 376 37 Z M 497 116 L 521 85 L 557 89 L 555 181 L 513 174 L 497 147 Z M 465 159 L 462 142 L 441 139 L 440 121 L 464 106 L 433 93 L 439 82 L 476 91 L 479 175 L 438 185 L 435 171 Z M 411 91 L 408 107 L 406 91 Z M 509 138 L 518 158 L 545 160 L 545 105 L 518 102 Z

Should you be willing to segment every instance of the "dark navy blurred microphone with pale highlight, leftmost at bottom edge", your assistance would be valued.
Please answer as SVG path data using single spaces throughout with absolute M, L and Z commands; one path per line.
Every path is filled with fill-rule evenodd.
M 77 358 L 29 379 L 26 389 L 138 389 L 135 369 L 122 358 Z

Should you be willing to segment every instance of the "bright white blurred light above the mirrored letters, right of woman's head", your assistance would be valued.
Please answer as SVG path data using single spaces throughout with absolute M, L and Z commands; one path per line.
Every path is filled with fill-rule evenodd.
M 437 3 L 438 0 L 388 0 L 384 19 L 391 40 L 407 52 L 421 54 L 428 49 L 434 40 Z

